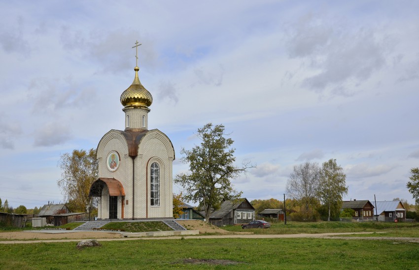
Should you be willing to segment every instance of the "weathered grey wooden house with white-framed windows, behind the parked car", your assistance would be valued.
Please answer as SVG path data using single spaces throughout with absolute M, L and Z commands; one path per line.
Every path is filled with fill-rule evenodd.
M 205 212 L 201 211 L 205 215 Z M 246 198 L 225 200 L 220 209 L 210 215 L 210 224 L 225 225 L 246 224 L 255 219 L 255 209 Z

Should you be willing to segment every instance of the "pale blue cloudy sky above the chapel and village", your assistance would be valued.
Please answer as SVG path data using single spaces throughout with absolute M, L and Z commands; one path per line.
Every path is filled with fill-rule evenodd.
M 293 166 L 336 158 L 345 199 L 413 202 L 419 166 L 419 2 L 1 1 L 0 198 L 63 200 L 60 155 L 124 129 L 121 93 L 153 95 L 149 129 L 174 176 L 196 130 L 222 123 L 249 200 L 283 197 Z M 175 192 L 178 188 L 175 187 Z

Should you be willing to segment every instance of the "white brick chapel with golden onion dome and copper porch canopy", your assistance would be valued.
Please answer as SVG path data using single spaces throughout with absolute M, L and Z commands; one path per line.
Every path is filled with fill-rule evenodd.
M 139 70 L 136 63 L 134 81 L 121 94 L 125 130 L 111 129 L 97 148 L 99 179 L 90 196 L 99 197 L 98 219 L 173 218 L 175 150 L 166 134 L 148 130 L 153 98 Z

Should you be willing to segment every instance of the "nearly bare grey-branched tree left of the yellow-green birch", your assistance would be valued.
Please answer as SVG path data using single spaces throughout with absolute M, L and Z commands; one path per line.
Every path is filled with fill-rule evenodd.
M 309 214 L 318 204 L 316 198 L 318 190 L 320 168 L 317 163 L 305 162 L 294 166 L 286 183 L 286 192 L 292 199 L 304 206 L 303 211 Z M 312 214 L 310 214 L 312 215 Z

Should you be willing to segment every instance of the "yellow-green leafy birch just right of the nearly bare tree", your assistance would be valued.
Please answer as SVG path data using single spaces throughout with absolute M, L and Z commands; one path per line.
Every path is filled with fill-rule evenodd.
M 346 174 L 343 168 L 336 164 L 336 159 L 329 159 L 323 163 L 317 189 L 317 196 L 327 207 L 327 221 L 330 216 L 339 214 L 342 207 L 342 197 L 348 194 L 346 186 Z

